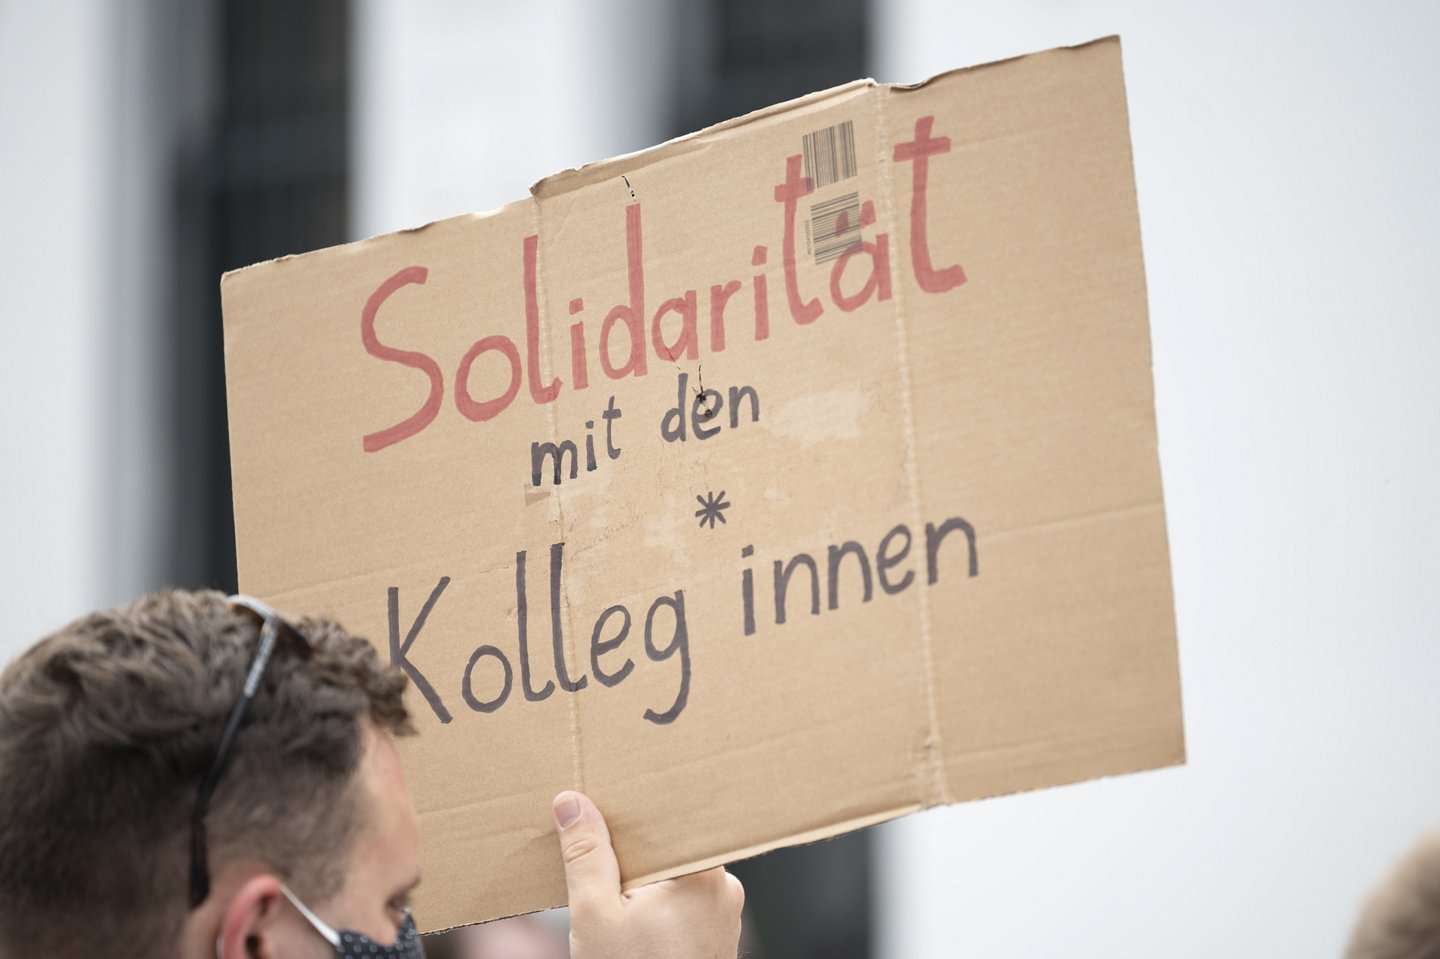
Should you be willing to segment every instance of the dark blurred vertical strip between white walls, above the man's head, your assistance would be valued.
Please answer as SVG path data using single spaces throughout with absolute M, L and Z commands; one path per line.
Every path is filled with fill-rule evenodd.
M 346 0 L 206 0 L 181 43 L 212 91 L 176 157 L 171 580 L 232 590 L 220 274 L 346 238 Z

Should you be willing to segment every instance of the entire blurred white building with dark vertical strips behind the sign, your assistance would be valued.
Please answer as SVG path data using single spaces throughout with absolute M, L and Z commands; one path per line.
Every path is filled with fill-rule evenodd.
M 158 585 L 235 587 L 223 271 L 857 76 L 1109 33 L 1189 765 L 739 864 L 749 955 L 1335 955 L 1440 821 L 1420 0 L 0 0 L 0 661 Z

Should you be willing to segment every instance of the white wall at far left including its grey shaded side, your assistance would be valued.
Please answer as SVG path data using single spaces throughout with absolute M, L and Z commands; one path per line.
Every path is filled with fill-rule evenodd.
M 0 668 L 161 585 L 164 13 L 0 0 Z

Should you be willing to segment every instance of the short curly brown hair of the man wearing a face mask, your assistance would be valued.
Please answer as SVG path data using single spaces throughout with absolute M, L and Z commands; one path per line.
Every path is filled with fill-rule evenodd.
M 206 818 L 210 868 L 266 863 L 302 897 L 344 877 L 366 719 L 413 731 L 403 674 L 330 619 L 276 647 Z M 0 675 L 0 955 L 168 955 L 190 811 L 259 638 L 215 592 L 79 619 Z

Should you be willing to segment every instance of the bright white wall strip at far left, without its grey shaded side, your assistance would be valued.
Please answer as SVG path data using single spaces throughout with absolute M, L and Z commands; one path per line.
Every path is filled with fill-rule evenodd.
M 112 30 L 0 0 L 0 664 L 107 596 Z

